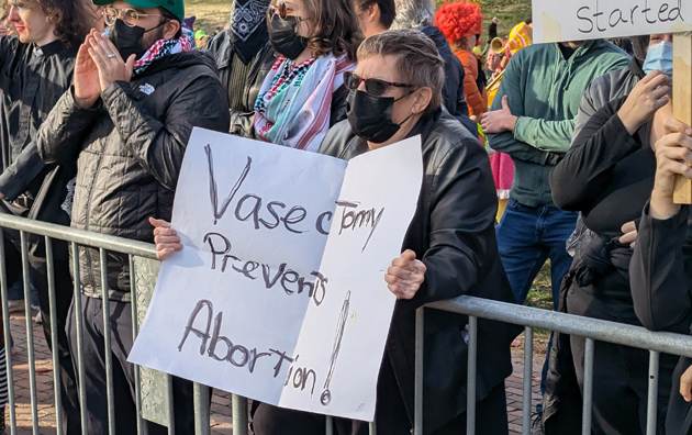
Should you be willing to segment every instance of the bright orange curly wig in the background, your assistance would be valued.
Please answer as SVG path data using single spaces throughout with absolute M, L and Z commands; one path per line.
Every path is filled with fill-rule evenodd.
M 465 1 L 447 2 L 435 13 L 435 25 L 450 44 L 483 33 L 482 21 L 480 5 Z

